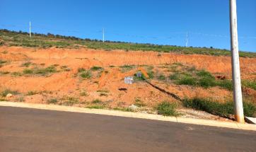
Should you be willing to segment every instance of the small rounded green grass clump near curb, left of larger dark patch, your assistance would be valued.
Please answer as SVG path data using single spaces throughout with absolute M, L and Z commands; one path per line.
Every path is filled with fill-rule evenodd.
M 159 103 L 157 105 L 156 110 L 158 110 L 158 115 L 177 117 L 180 115 L 176 111 L 177 107 L 178 107 L 177 103 L 169 103 L 168 101 L 163 101 L 162 103 Z

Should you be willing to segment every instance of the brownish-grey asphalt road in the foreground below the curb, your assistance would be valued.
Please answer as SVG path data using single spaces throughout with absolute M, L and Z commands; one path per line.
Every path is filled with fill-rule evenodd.
M 256 151 L 256 131 L 0 107 L 0 151 Z

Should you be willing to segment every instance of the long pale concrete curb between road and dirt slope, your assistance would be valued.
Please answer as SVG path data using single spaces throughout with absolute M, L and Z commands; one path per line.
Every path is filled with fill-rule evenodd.
M 141 118 L 141 119 L 153 119 L 165 122 L 180 122 L 185 124 L 199 124 L 211 127 L 224 127 L 231 129 L 243 129 L 256 131 L 255 124 L 240 124 L 237 122 L 221 122 L 216 120 L 208 119 L 192 119 L 192 118 L 183 118 L 183 117 L 164 117 L 161 115 L 152 115 L 144 114 L 139 112 L 122 112 L 116 110 L 96 110 L 88 109 L 83 107 L 67 107 L 62 105 L 42 105 L 42 104 L 31 104 L 31 103 L 12 103 L 12 102 L 0 102 L 0 106 L 3 107 L 26 107 L 40 110 L 56 110 L 64 112 L 81 112 L 81 113 L 90 113 L 98 115 L 111 115 L 119 117 L 132 117 L 132 118 Z

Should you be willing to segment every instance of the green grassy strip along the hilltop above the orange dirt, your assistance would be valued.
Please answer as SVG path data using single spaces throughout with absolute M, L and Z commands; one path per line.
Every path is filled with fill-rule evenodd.
M 0 30 L 0 45 L 22 46 L 22 47 L 57 47 L 57 48 L 79 48 L 88 47 L 91 49 L 124 49 L 125 51 L 155 51 L 155 52 L 177 52 L 182 54 L 208 54 L 214 56 L 231 56 L 227 49 L 215 49 L 206 47 L 179 47 L 173 45 L 152 45 L 138 44 L 130 42 L 113 42 L 91 39 L 81 39 L 78 37 L 53 35 L 51 33 L 39 34 L 32 33 L 30 39 L 29 33 L 22 31 Z M 240 57 L 256 57 L 254 52 L 240 52 Z

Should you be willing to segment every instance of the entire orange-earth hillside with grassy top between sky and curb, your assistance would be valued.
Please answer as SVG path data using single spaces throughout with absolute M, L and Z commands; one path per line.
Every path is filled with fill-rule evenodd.
M 0 37 L 0 101 L 233 118 L 228 51 L 103 44 L 60 35 L 34 34 L 30 40 L 28 34 L 3 30 Z M 180 48 L 182 54 L 167 48 Z M 218 56 L 204 54 L 214 51 Z M 255 116 L 256 58 L 243 53 L 248 55 L 240 58 L 244 110 Z M 126 76 L 133 76 L 134 83 L 124 83 Z

